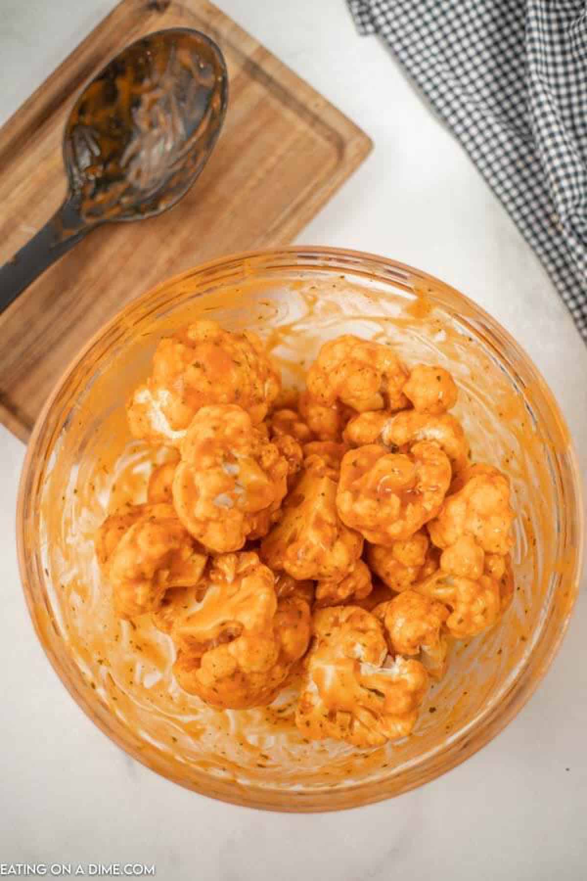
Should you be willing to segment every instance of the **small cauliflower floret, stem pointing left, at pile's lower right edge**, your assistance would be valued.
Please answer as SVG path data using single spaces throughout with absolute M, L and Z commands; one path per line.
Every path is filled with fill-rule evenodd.
M 501 616 L 499 582 L 490 575 L 481 575 L 473 581 L 439 569 L 425 581 L 416 582 L 414 590 L 449 606 L 451 614 L 446 627 L 458 640 L 488 630 Z

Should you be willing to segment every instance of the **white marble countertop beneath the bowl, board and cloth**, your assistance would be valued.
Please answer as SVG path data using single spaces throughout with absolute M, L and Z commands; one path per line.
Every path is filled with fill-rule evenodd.
M 344 0 L 218 0 L 363 126 L 371 157 L 300 241 L 363 248 L 444 278 L 546 376 L 587 469 L 587 349 L 501 204 Z M 0 122 L 114 6 L 0 0 Z M 2 208 L 0 207 L 0 211 Z M 92 725 L 50 668 L 19 586 L 24 447 L 0 427 L 0 873 L 11 862 L 155 863 L 164 881 L 579 879 L 587 872 L 587 596 L 539 692 L 450 774 L 393 801 L 289 816 L 210 801 Z

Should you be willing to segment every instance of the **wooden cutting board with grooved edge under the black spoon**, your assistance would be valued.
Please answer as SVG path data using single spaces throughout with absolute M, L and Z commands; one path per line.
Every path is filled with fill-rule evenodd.
M 150 31 L 222 48 L 230 100 L 209 164 L 159 218 L 92 232 L 0 315 L 0 420 L 22 440 L 62 370 L 124 303 L 209 258 L 285 244 L 371 150 L 362 130 L 205 0 L 122 0 L 0 130 L 0 263 L 62 203 L 63 124 L 80 88 Z

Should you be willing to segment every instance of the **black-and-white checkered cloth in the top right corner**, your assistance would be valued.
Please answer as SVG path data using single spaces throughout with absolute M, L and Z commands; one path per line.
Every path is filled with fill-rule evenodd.
M 587 341 L 587 0 L 347 0 L 459 137 Z

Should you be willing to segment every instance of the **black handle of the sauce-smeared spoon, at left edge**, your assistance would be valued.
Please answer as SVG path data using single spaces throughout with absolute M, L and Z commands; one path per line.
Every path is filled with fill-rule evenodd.
M 48 223 L 0 268 L 0 312 L 91 228 L 67 198 Z

